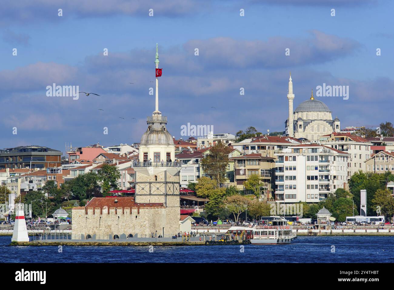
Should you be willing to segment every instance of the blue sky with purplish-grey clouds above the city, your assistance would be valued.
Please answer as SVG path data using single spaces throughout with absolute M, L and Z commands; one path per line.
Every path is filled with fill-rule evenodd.
M 290 71 L 294 108 L 317 86 L 349 86 L 347 100 L 316 97 L 342 128 L 393 122 L 393 10 L 380 0 L 4 0 L 0 148 L 139 142 L 156 43 L 159 110 L 175 138 L 189 137 L 188 123 L 284 131 Z M 54 83 L 100 96 L 47 96 Z

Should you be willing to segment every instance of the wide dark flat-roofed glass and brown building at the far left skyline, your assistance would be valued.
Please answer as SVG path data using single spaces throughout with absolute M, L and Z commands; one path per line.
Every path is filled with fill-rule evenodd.
M 42 146 L 19 146 L 0 150 L 0 169 L 48 168 L 61 165 L 62 152 Z

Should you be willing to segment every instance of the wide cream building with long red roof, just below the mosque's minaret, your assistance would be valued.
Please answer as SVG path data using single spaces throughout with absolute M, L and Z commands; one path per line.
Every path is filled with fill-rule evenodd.
M 295 138 L 288 136 L 255 136 L 250 141 L 244 140 L 239 143 L 232 143 L 232 147 L 238 149 L 242 154 L 260 153 L 265 156 L 275 157 L 275 153 L 290 146 L 300 144 Z

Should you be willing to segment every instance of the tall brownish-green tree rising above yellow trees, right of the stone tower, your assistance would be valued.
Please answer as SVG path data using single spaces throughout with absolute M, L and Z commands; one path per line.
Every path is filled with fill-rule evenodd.
M 211 175 L 216 180 L 217 187 L 219 187 L 220 183 L 225 182 L 232 148 L 222 142 L 217 142 L 215 146 L 210 147 L 209 151 L 210 154 L 201 159 L 201 167 L 203 167 L 205 174 Z

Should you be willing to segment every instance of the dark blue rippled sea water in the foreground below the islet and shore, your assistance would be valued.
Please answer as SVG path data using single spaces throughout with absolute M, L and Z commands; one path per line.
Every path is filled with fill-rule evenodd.
M 290 245 L 223 246 L 9 246 L 0 236 L 1 262 L 394 262 L 391 236 L 299 236 Z

